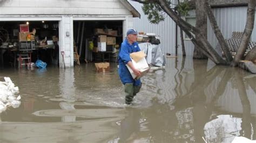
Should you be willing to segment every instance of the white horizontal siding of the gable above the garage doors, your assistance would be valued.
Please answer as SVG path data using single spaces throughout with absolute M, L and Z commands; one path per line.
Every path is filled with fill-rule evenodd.
M 5 0 L 0 15 L 131 15 L 118 0 Z

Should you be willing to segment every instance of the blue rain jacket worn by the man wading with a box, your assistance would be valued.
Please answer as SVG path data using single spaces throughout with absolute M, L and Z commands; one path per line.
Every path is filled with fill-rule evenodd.
M 121 48 L 119 50 L 119 68 L 118 68 L 118 74 L 121 78 L 121 81 L 123 84 L 125 83 L 133 83 L 134 86 L 140 86 L 141 82 L 140 79 L 133 80 L 132 75 L 130 74 L 128 68 L 126 67 L 126 64 L 131 61 L 130 53 L 133 52 L 139 52 L 140 48 L 138 45 L 138 42 L 134 42 L 132 45 L 129 44 L 128 40 L 125 39 L 122 42 Z

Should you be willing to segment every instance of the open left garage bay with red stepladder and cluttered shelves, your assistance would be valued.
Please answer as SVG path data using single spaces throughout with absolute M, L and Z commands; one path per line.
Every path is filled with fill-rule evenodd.
M 29 67 L 41 60 L 50 65 L 59 61 L 59 21 L 1 21 L 1 67 Z

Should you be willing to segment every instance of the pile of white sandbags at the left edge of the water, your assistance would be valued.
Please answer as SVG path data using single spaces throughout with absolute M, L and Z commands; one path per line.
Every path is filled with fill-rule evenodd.
M 19 88 L 15 87 L 10 77 L 4 77 L 5 82 L 0 81 L 0 113 L 5 111 L 8 106 L 18 108 L 21 104 Z

